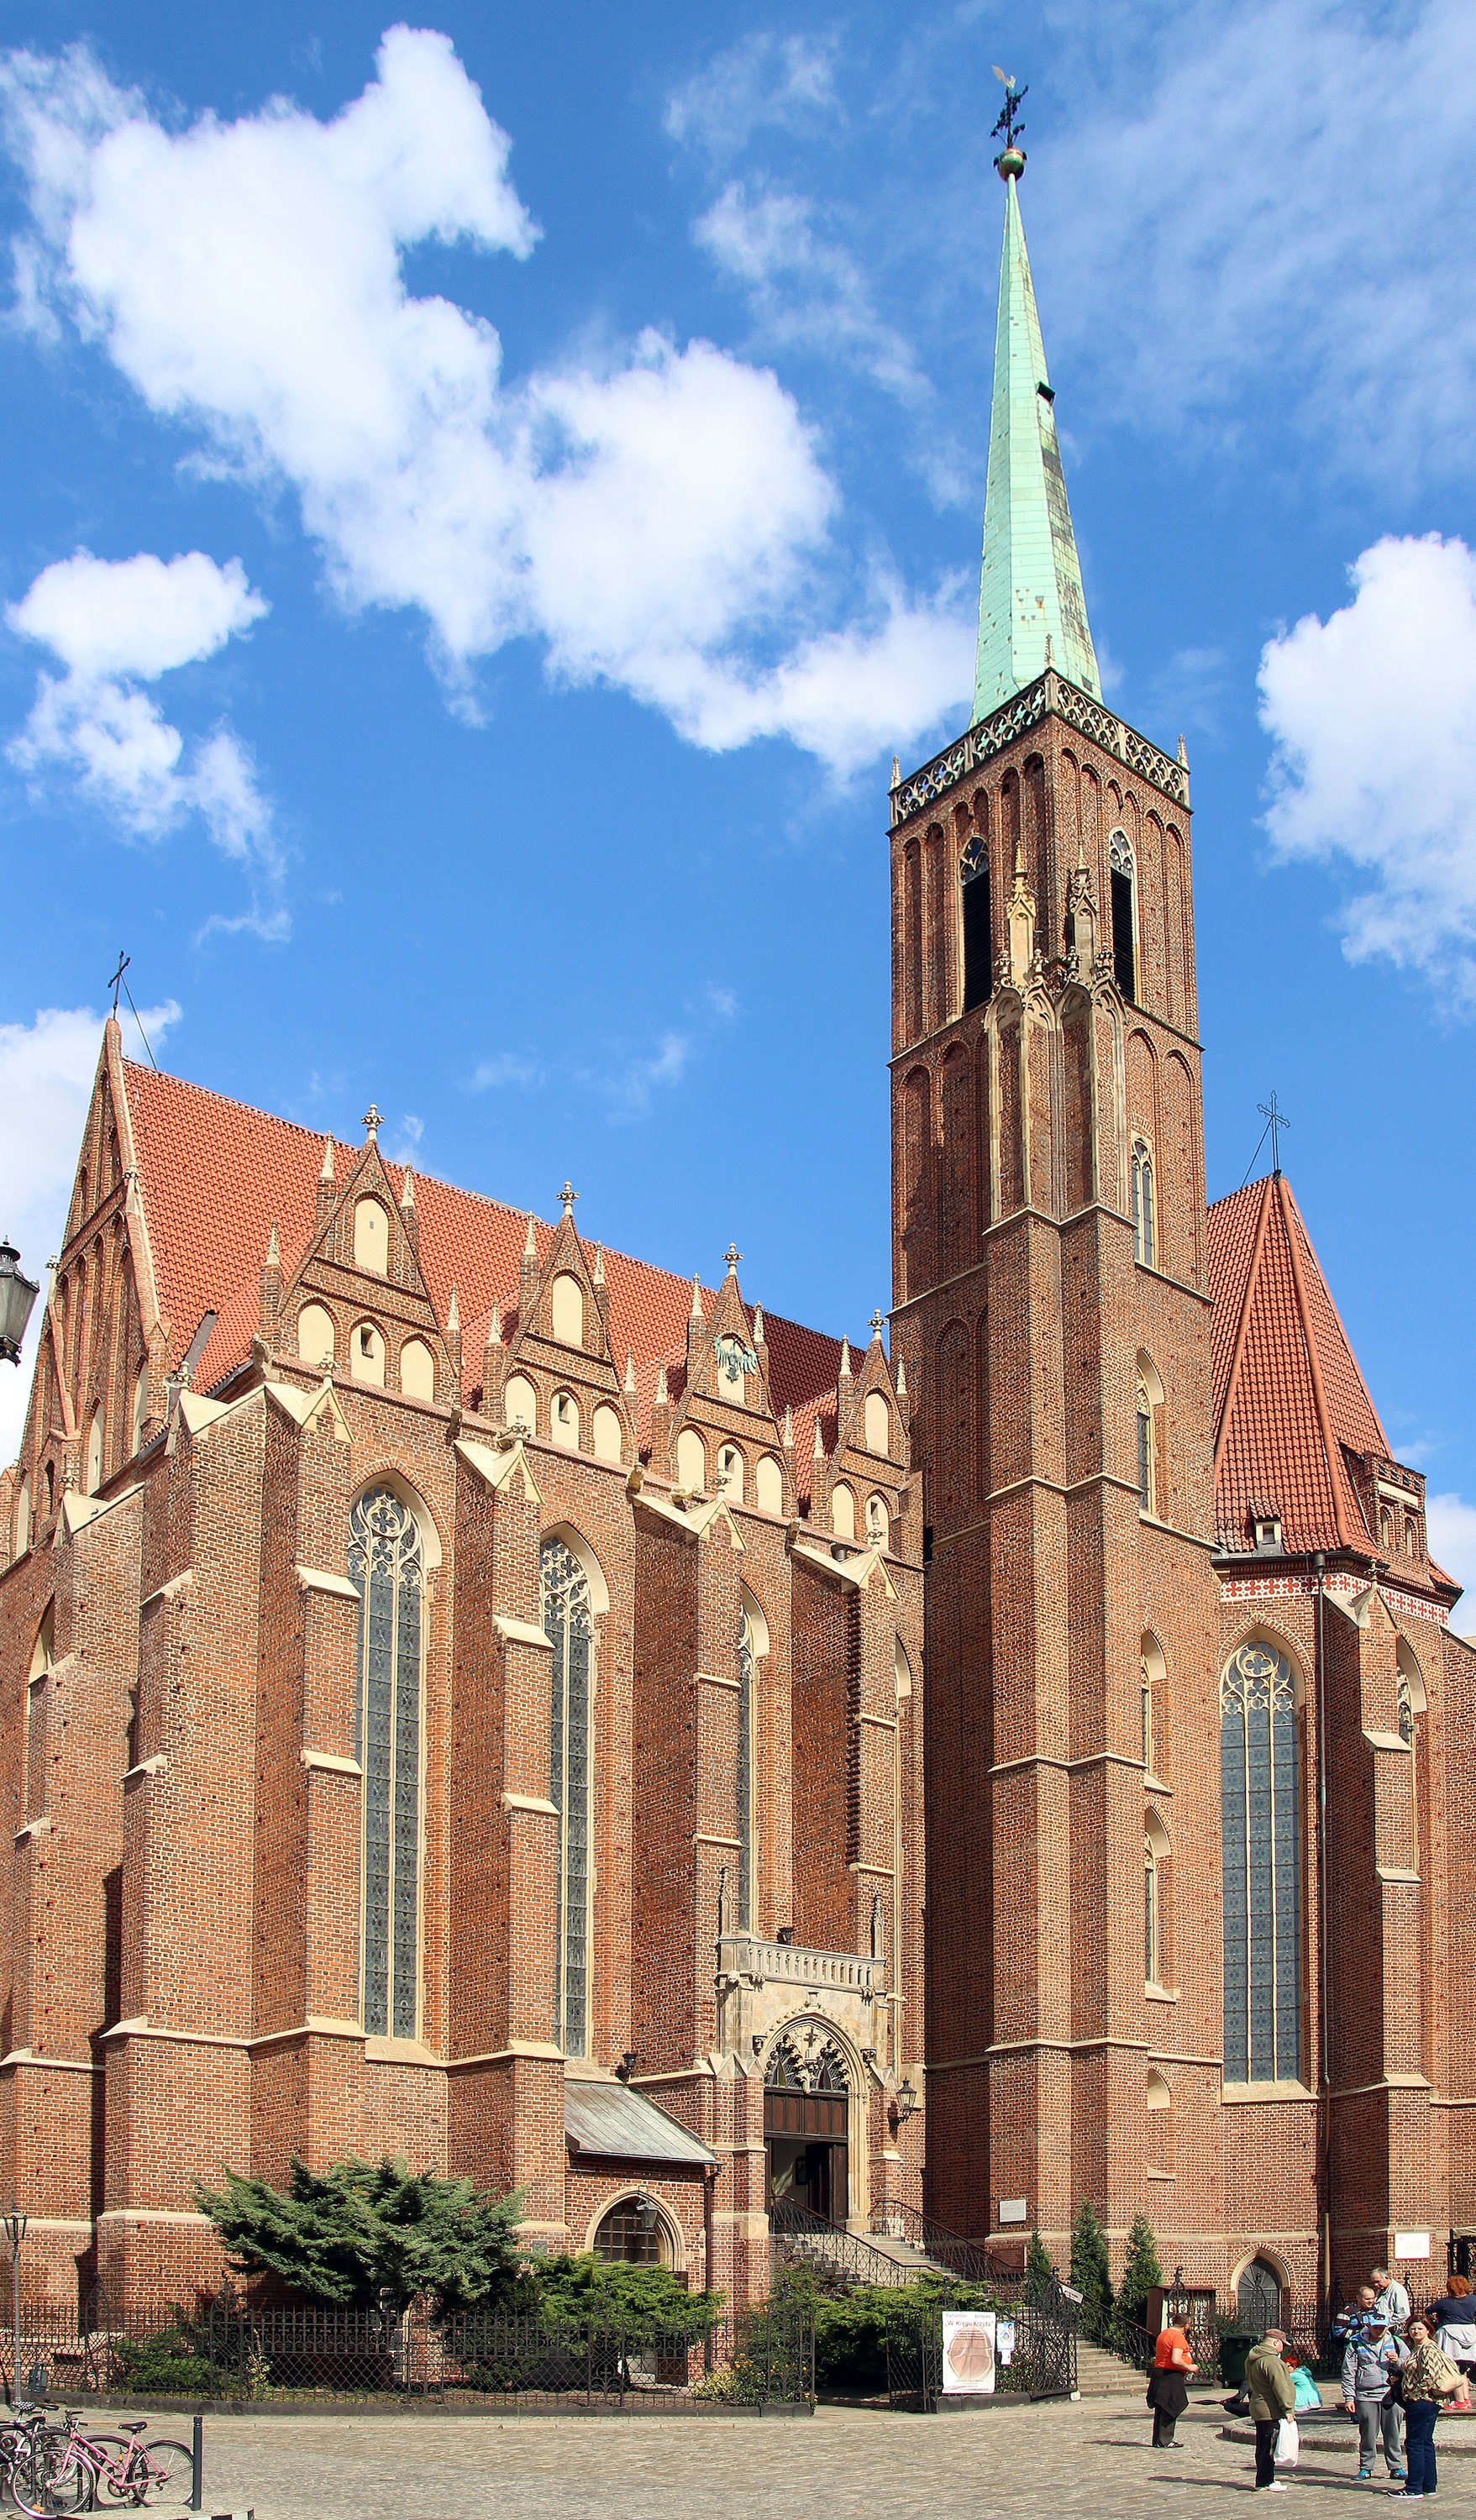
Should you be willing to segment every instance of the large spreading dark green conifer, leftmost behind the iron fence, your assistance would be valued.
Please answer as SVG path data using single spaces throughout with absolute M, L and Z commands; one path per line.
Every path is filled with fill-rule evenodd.
M 521 2271 L 521 2192 L 486 2197 L 471 2180 L 406 2162 L 348 2155 L 317 2172 L 295 2157 L 285 2190 L 227 2170 L 219 2190 L 196 2185 L 194 2195 L 239 2276 L 280 2276 L 335 2308 L 403 2311 L 418 2296 L 438 2311 L 489 2306 Z

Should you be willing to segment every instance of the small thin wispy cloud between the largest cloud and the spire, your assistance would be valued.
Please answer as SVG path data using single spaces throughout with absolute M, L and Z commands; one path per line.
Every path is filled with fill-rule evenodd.
M 695 237 L 748 292 L 768 340 L 841 358 L 902 403 L 927 398 L 927 378 L 902 333 L 877 315 L 861 267 L 816 232 L 814 202 L 768 184 L 728 184 Z

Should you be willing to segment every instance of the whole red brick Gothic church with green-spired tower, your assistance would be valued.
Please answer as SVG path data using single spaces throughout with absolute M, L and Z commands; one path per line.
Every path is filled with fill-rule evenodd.
M 214 2283 L 194 2182 L 292 2155 L 738 2301 L 783 2200 L 1146 2213 L 1259 2318 L 1476 2235 L 1476 1653 L 1280 1164 L 1206 1210 L 1189 764 L 1101 696 L 1023 164 L 972 723 L 889 799 L 889 1346 L 106 1028 L 0 1482 L 58 2303 Z

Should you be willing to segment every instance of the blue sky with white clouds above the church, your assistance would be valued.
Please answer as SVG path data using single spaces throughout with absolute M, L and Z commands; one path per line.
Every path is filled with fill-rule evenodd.
M 967 718 L 1000 186 L 1113 706 L 1476 1583 L 1476 20 L 13 0 L 0 1225 L 164 1063 L 773 1310 L 887 1300 L 887 774 Z M 191 557 L 199 554 L 199 557 Z M 126 564 L 126 567 L 123 567 Z M 20 1378 L 15 1378 L 20 1381 Z M 5 1389 L 13 1439 L 20 1391 Z M 1468 1502 L 1463 1502 L 1468 1499 Z

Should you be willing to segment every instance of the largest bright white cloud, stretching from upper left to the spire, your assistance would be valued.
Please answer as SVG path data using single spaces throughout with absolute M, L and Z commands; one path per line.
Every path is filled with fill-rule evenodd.
M 819 58 L 778 45 L 773 96 L 819 101 Z M 217 466 L 287 484 L 343 602 L 416 607 L 453 688 L 534 635 L 554 673 L 622 685 L 693 741 L 748 718 L 854 759 L 854 723 L 836 746 L 803 706 L 786 716 L 844 602 L 836 494 L 778 381 L 645 333 L 610 370 L 509 388 L 486 320 L 408 295 L 418 239 L 526 255 L 536 234 L 443 35 L 393 28 L 330 123 L 275 103 L 166 129 L 81 48 L 10 55 L 0 106 L 30 199 L 18 310 L 101 343 Z M 869 756 L 937 721 L 937 688 L 917 716 L 914 620 L 929 653 L 927 605 L 884 607 L 877 653 L 844 633 L 882 693 Z M 793 673 L 758 675 L 776 653 Z M 118 751 L 144 796 L 169 769 L 136 711 L 98 736 Z

